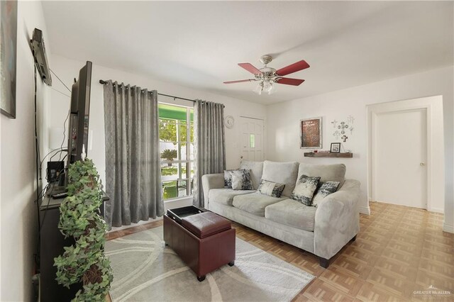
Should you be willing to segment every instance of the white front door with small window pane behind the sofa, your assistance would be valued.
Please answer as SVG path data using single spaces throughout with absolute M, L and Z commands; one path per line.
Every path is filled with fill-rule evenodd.
M 240 118 L 241 156 L 245 160 L 261 162 L 263 152 L 263 120 L 256 118 Z

